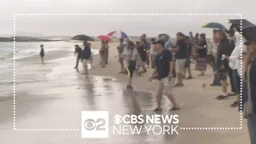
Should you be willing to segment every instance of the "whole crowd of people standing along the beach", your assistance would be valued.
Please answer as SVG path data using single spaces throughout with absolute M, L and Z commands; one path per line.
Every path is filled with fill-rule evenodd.
M 246 29 L 245 29 L 246 30 Z M 170 110 L 179 110 L 180 107 L 175 101 L 172 90 L 174 87 L 185 86 L 183 79 L 193 78 L 191 74 L 190 62 L 195 60 L 195 70 L 198 70 L 198 76 L 204 76 L 207 65 L 213 69 L 214 79 L 210 86 L 221 86 L 220 94 L 216 97 L 218 100 L 230 96 L 236 96 L 236 101 L 230 106 L 238 107 L 244 110 L 248 118 L 248 127 L 250 131 L 251 143 L 256 143 L 256 26 L 254 26 L 254 35 L 250 38 L 241 37 L 240 27 L 232 25 L 230 30 L 213 30 L 212 46 L 206 40 L 206 34 L 195 34 L 192 32 L 187 36 L 181 32 L 176 34 L 176 42 L 169 36 L 150 38 L 147 40 L 146 34 L 142 34 L 137 42 L 130 39 L 119 39 L 117 46 L 118 62 L 120 63 L 120 74 L 128 74 L 127 90 L 132 90 L 132 78 L 134 74 L 142 75 L 147 69 L 153 69 L 150 77 L 158 80 L 157 107 L 154 111 L 161 111 L 162 95 L 169 98 L 173 106 Z M 250 30 L 247 30 L 250 31 Z M 245 32 L 243 32 L 245 33 Z M 249 32 L 248 32 L 249 33 Z M 244 44 L 240 44 L 242 39 Z M 88 74 L 88 64 L 92 65 L 93 54 L 90 49 L 90 42 L 83 42 L 84 49 L 78 45 L 75 46 L 75 52 L 78 53 L 76 66 L 81 60 L 84 66 L 84 74 Z M 109 44 L 102 41 L 100 54 L 100 65 L 102 68 L 108 64 Z M 242 53 L 241 53 L 242 50 Z M 243 54 L 243 57 L 242 55 Z M 40 56 L 44 57 L 43 46 L 41 46 Z M 244 62 L 242 72 L 241 62 Z M 186 77 L 186 72 L 188 77 Z M 228 78 L 230 79 L 230 90 L 227 92 Z M 241 78 L 243 90 L 241 91 Z M 174 84 L 174 81 L 176 83 Z M 242 92 L 242 101 L 240 94 Z M 244 106 L 243 109 L 242 106 Z

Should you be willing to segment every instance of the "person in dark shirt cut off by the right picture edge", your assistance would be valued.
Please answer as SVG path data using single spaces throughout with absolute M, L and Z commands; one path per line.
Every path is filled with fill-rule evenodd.
M 243 115 L 247 118 L 250 144 L 254 144 L 256 143 L 256 26 L 243 29 L 242 35 L 247 39 L 244 44 L 249 46 L 249 51 L 245 58 L 246 72 L 242 82 L 242 106 L 244 108 Z

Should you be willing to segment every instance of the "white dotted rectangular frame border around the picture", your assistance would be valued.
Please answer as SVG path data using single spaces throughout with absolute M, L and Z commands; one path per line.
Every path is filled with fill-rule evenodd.
M 240 16 L 240 58 L 241 58 L 241 67 L 242 71 L 242 14 L 14 14 L 14 130 L 18 131 L 78 131 L 79 129 L 17 129 L 16 128 L 16 90 L 15 90 L 15 22 L 16 16 Z M 242 73 L 240 79 L 240 109 L 242 108 Z M 242 111 L 240 111 L 240 126 L 238 127 L 180 127 L 180 130 L 242 130 Z

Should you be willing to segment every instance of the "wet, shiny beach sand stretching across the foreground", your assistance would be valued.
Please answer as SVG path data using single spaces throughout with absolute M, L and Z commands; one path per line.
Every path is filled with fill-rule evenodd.
M 98 46 L 98 43 L 93 43 Z M 71 129 L 68 131 L 14 131 L 12 86 L 7 98 L 0 100 L 0 143 L 177 143 L 177 144 L 226 144 L 249 143 L 246 122 L 242 130 L 178 130 L 179 135 L 113 135 L 107 139 L 81 138 L 81 111 L 108 110 L 110 118 L 114 114 L 152 114 L 155 104 L 156 82 L 149 82 L 149 70 L 143 77 L 134 77 L 134 93 L 127 93 L 126 75 L 118 74 L 118 59 L 115 58 L 116 43 L 110 43 L 109 65 L 98 66 L 98 55 L 94 56 L 94 69 L 86 77 L 74 70 L 74 56 L 71 52 L 58 57 L 56 61 L 42 66 L 35 58 L 16 72 L 16 129 Z M 33 59 L 33 58 L 32 58 Z M 31 61 L 31 59 L 30 59 Z M 39 69 L 38 67 L 41 67 Z M 43 68 L 45 67 L 45 68 Z M 80 69 L 82 65 L 80 64 Z M 21 72 L 23 71 L 23 73 Z M 26 77 L 26 75 L 42 75 Z M 237 108 L 230 108 L 235 98 L 217 101 L 220 87 L 210 87 L 212 74 L 210 67 L 205 77 L 184 81 L 185 86 L 175 88 L 174 95 L 182 110 L 168 112 L 170 102 L 163 97 L 162 114 L 179 114 L 179 127 L 240 127 Z M 21 81 L 22 80 L 22 81 Z M 206 83 L 206 90 L 202 90 Z M 7 93 L 6 93 L 7 94 Z M 110 126 L 113 125 L 110 123 Z

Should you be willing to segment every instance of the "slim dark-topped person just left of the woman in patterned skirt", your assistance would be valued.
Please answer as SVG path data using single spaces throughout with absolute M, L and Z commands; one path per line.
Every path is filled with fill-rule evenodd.
M 191 55 L 192 55 L 192 43 L 190 42 L 190 37 L 189 36 L 186 36 L 185 37 L 185 42 L 186 42 L 186 63 L 185 63 L 185 69 L 184 69 L 184 73 L 183 73 L 183 78 L 186 78 L 186 70 L 189 74 L 189 77 L 186 78 L 186 79 L 191 79 L 193 78 L 192 77 L 192 74 L 191 74 L 191 69 L 190 69 L 190 58 L 191 58 Z

